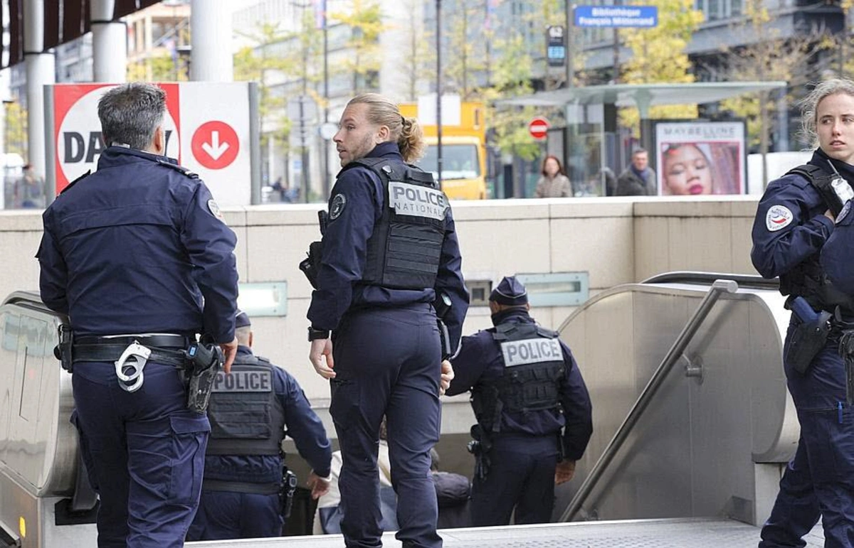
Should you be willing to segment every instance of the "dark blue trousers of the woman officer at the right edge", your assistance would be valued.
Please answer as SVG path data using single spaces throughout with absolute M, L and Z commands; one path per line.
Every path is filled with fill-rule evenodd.
M 784 355 L 792 331 L 790 326 Z M 854 409 L 845 405 L 838 345 L 828 341 L 804 375 L 785 364 L 801 435 L 763 527 L 761 548 L 804 546 L 801 538 L 819 515 L 826 547 L 854 547 Z

